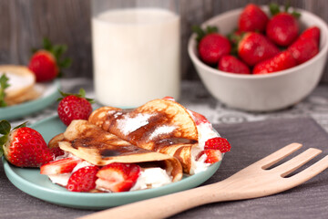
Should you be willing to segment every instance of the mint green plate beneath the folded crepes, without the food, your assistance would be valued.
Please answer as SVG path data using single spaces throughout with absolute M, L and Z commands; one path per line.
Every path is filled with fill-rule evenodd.
M 31 128 L 38 130 L 46 141 L 66 130 L 66 126 L 56 116 L 36 122 Z M 205 172 L 185 176 L 177 183 L 149 190 L 126 193 L 73 193 L 51 183 L 46 175 L 39 173 L 39 169 L 18 168 L 6 162 L 5 159 L 3 162 L 8 179 L 21 191 L 49 203 L 81 209 L 104 209 L 187 190 L 207 181 L 220 166 L 220 162 L 214 163 Z

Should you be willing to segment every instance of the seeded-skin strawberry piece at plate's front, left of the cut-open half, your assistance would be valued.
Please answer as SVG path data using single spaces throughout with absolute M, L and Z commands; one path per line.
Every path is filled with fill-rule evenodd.
M 73 172 L 67 183 L 67 190 L 71 192 L 89 192 L 96 188 L 97 166 L 86 166 Z

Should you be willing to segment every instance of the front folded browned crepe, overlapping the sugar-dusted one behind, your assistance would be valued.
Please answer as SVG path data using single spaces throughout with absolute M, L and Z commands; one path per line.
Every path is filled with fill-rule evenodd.
M 64 133 L 49 141 L 50 148 L 56 146 L 94 165 L 137 163 L 141 168 L 160 167 L 166 170 L 172 182 L 182 178 L 182 167 L 177 159 L 138 148 L 87 120 L 73 120 Z

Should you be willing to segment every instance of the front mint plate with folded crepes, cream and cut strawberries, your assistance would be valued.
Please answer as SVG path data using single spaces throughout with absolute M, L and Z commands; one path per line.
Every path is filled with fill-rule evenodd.
M 174 99 L 130 110 L 101 107 L 65 126 L 57 116 L 33 124 L 54 161 L 19 168 L 4 161 L 17 188 L 46 202 L 104 209 L 198 186 L 217 172 L 229 142 L 199 113 Z M 230 150 L 230 144 L 229 144 Z

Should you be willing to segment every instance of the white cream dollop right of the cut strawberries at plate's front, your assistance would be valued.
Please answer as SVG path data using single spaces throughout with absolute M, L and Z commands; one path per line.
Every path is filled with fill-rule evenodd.
M 136 184 L 130 189 L 130 191 L 158 188 L 169 183 L 172 183 L 172 178 L 165 170 L 159 167 L 148 168 L 140 172 Z

